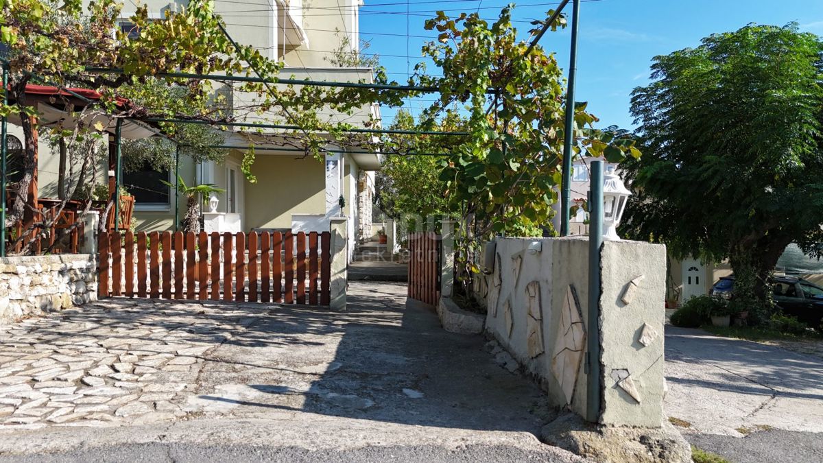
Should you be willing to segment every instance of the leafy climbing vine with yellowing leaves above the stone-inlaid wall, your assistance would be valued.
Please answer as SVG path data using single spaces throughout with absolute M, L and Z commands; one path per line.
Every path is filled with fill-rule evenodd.
M 565 19 L 548 26 L 556 30 Z M 442 76 L 426 75 L 423 64 L 416 67 L 416 82 L 440 89 L 439 101 L 423 111 L 419 127 L 433 126 L 454 104 L 465 105 L 469 114 L 469 135 L 440 161 L 439 179 L 447 185 L 450 212 L 472 217 L 459 236 L 458 261 L 474 272 L 471 250 L 480 239 L 504 232 L 534 235 L 551 218 L 561 177 L 565 82 L 554 54 L 518 40 L 511 7 L 491 24 L 477 13 L 438 12 L 425 28 L 439 32 L 423 54 Z M 629 152 L 639 156 L 633 140 L 593 129 L 597 118 L 586 106 L 574 107 L 575 156 L 586 152 L 610 161 Z

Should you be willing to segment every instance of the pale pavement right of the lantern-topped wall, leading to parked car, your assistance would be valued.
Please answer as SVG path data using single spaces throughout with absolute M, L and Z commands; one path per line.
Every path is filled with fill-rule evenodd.
M 666 377 L 666 413 L 690 442 L 734 461 L 823 461 L 823 359 L 667 325 Z

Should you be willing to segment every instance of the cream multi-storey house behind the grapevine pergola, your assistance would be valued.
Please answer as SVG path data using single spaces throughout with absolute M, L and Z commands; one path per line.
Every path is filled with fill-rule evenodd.
M 165 12 L 174 11 L 179 3 L 148 0 L 150 17 L 160 20 Z M 268 58 L 285 63 L 283 77 L 314 81 L 371 82 L 370 68 L 337 68 L 328 58 L 342 44 L 359 44 L 359 0 L 315 0 L 315 8 L 334 9 L 340 14 L 308 15 L 309 4 L 300 0 L 270 0 L 266 2 L 236 2 L 216 0 L 215 10 L 226 21 L 226 30 L 234 40 L 265 50 Z M 133 27 L 128 16 L 135 3 L 123 7 L 123 30 Z M 138 37 L 135 38 L 137 40 Z M 231 91 L 223 88 L 221 91 Z M 235 99 L 247 96 L 234 92 Z M 48 105 L 44 104 L 44 109 Z M 330 119 L 340 115 L 332 110 L 325 114 Z M 354 115 L 346 115 L 346 122 L 363 125 L 370 119 L 379 119 L 379 106 L 367 105 Z M 14 139 L 22 140 L 19 126 L 9 125 L 10 146 Z M 249 139 L 239 133 L 226 138 L 227 146 L 248 146 Z M 217 195 L 217 212 L 204 215 L 211 221 L 206 228 L 232 228 L 231 231 L 253 230 L 328 231 L 329 218 L 346 216 L 350 253 L 357 241 L 370 235 L 371 203 L 374 196 L 374 171 L 380 167 L 381 157 L 329 143 L 330 152 L 323 160 L 303 157 L 293 147 L 270 143 L 258 145 L 252 172 L 256 183 L 245 179 L 240 166 L 243 152 L 230 150 L 226 161 L 195 163 L 181 157 L 179 175 L 186 185 L 214 184 L 224 190 Z M 10 152 L 14 156 L 14 152 Z M 97 180 L 105 185 L 107 168 L 100 169 Z M 58 179 L 65 166 L 60 165 L 57 150 L 40 141 L 38 156 L 38 188 L 41 198 L 58 197 Z M 113 172 L 109 172 L 113 175 Z M 174 183 L 174 172 L 156 171 L 142 166 L 123 172 L 123 185 L 134 196 L 134 219 L 137 231 L 153 232 L 175 229 L 175 208 L 183 217 L 186 200 L 164 182 Z M 206 208 L 207 209 L 207 208 Z M 208 217 L 206 217 L 208 216 Z M 212 228 L 214 229 L 214 228 Z

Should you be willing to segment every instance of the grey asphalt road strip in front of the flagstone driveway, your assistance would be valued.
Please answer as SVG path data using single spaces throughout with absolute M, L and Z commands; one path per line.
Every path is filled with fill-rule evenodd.
M 577 459 L 575 459 L 577 460 Z M 53 453 L 30 456 L 0 456 L 0 462 L 129 462 L 142 461 L 163 462 L 174 461 L 184 463 L 203 463 L 210 461 L 289 461 L 290 463 L 319 461 L 358 461 L 363 463 L 384 461 L 425 461 L 437 462 L 497 462 L 497 461 L 570 461 L 568 457 L 557 456 L 556 452 L 547 447 L 545 451 L 535 449 L 524 450 L 520 447 L 509 446 L 466 446 L 453 449 L 439 446 L 392 446 L 392 447 L 360 447 L 350 450 L 319 450 L 309 451 L 300 447 L 263 447 L 263 446 L 201 446 L 180 443 L 146 443 L 103 447 L 95 449 L 80 449 L 65 453 Z M 583 461 L 580 459 L 579 461 Z

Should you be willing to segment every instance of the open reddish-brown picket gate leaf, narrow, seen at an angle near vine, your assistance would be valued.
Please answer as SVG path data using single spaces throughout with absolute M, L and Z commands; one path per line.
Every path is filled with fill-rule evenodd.
M 432 306 L 440 292 L 440 240 L 434 232 L 417 232 L 408 236 L 408 297 Z

